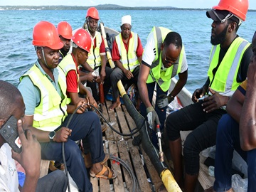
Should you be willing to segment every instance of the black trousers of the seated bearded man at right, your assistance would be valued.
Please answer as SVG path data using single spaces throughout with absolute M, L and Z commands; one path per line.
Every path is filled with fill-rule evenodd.
M 180 131 L 193 130 L 183 148 L 185 171 L 189 175 L 198 174 L 199 153 L 215 145 L 218 121 L 226 113 L 223 109 L 206 113 L 201 105 L 202 100 L 172 112 L 166 119 L 166 132 L 171 141 L 181 137 Z

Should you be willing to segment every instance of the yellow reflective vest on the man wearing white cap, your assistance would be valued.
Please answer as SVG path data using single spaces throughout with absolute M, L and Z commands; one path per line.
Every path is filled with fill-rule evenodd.
M 124 42 L 122 41 L 122 34 L 115 36 L 115 41 L 117 42 L 118 51 L 120 54 L 120 62 L 129 71 L 133 71 L 139 65 L 139 60 L 137 58 L 137 47 L 138 47 L 138 34 L 132 33 L 132 38 L 129 39 L 128 53 L 125 49 Z

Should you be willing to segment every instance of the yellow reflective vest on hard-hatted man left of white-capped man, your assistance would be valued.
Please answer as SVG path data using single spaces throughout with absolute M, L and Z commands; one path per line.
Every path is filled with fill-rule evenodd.
M 100 32 L 95 31 L 96 46 L 94 48 L 94 40 L 92 38 L 92 46 L 90 48 L 90 53 L 88 53 L 87 63 L 92 69 L 101 65 L 100 58 L 100 44 L 102 43 L 102 37 Z

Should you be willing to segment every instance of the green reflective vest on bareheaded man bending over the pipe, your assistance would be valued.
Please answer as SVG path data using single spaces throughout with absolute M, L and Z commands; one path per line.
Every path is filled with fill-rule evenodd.
M 154 33 L 154 42 L 156 48 L 156 55 L 154 61 L 151 65 L 151 69 L 149 71 L 149 77 L 146 80 L 146 83 L 157 82 L 161 87 L 161 90 L 164 92 L 169 90 L 171 85 L 171 78 L 174 78 L 175 75 L 181 72 L 181 65 L 183 62 L 183 55 L 184 55 L 184 46 L 181 48 L 181 53 L 178 56 L 178 64 L 171 65 L 170 68 L 166 70 L 161 70 L 161 66 L 163 65 L 161 60 L 161 44 L 164 42 L 167 34 L 171 32 L 168 28 L 164 27 L 156 27 L 154 26 L 151 30 Z

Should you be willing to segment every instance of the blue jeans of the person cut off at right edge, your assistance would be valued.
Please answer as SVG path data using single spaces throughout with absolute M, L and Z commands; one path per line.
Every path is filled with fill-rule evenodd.
M 240 147 L 239 124 L 229 114 L 223 115 L 218 123 L 215 151 L 215 191 L 227 191 L 231 188 L 231 168 L 233 151 L 247 161 L 248 192 L 256 191 L 256 149 L 242 151 Z

